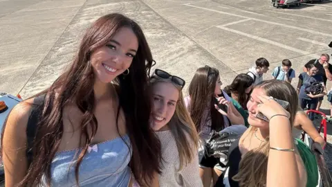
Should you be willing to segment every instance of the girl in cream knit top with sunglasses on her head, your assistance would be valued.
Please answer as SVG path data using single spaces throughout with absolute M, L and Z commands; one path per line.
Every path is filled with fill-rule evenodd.
M 203 186 L 197 154 L 199 135 L 185 107 L 185 80 L 156 69 L 150 78 L 151 127 L 161 143 L 160 187 Z

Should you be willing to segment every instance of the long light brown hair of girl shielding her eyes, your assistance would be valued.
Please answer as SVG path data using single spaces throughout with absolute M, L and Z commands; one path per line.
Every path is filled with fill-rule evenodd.
M 289 103 L 286 109 L 290 114 L 291 127 L 297 113 L 298 98 L 294 87 L 288 82 L 281 80 L 266 80 L 257 84 L 255 88 L 264 89 L 267 96 L 272 96 L 279 100 L 286 100 Z M 250 127 L 252 136 L 256 127 Z M 239 172 L 232 179 L 239 182 L 239 186 L 264 187 L 266 186 L 266 177 L 268 172 L 268 152 L 270 150 L 270 141 L 268 137 L 266 142 L 259 148 L 247 152 L 240 161 Z

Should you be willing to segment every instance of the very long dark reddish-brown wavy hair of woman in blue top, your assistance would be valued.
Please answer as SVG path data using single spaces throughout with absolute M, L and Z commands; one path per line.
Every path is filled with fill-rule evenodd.
M 84 148 L 77 156 L 75 164 L 75 177 L 78 184 L 80 163 L 98 129 L 98 122 L 93 114 L 95 75 L 89 63 L 90 55 L 95 49 L 107 44 L 111 37 L 123 27 L 131 28 L 135 33 L 138 39 L 138 51 L 129 67 L 129 75 L 119 75 L 114 80 L 114 83 L 119 85 L 116 125 L 118 128 L 118 118 L 122 109 L 127 134 L 131 141 L 132 155 L 129 166 L 138 183 L 142 186 L 150 184 L 153 173 L 160 172 L 160 142 L 149 127 L 151 103 L 147 91 L 149 75 L 147 71 L 151 69 L 153 63 L 151 51 L 142 29 L 135 21 L 120 14 L 109 14 L 100 17 L 86 30 L 69 69 L 60 75 L 50 88 L 36 95 L 45 95 L 44 107 L 33 143 L 33 161 L 26 177 L 21 181 L 22 186 L 25 184 L 38 186 L 42 175 L 46 176 L 46 182 L 50 184 L 50 165 L 64 131 L 62 122 L 64 106 L 71 102 L 75 103 L 83 113 L 81 123 L 83 142 L 81 143 L 84 144 Z

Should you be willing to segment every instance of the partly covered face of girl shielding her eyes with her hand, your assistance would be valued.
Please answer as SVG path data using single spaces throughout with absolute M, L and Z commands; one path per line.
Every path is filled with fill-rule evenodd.
M 261 103 L 257 96 L 266 96 L 264 89 L 255 88 L 254 90 L 252 90 L 252 94 L 250 95 L 250 99 L 247 103 L 247 108 L 249 112 L 248 123 L 253 127 L 268 128 L 268 122 L 256 118 L 256 115 L 258 114 L 258 104 Z

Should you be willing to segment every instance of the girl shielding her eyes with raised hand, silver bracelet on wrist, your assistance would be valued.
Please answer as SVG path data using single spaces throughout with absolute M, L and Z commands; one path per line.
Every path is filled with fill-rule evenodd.
M 289 105 L 284 109 L 274 98 Z M 316 186 L 315 156 L 292 136 L 297 106 L 296 91 L 288 82 L 257 84 L 247 104 L 250 127 L 232 143 L 228 168 L 216 186 Z M 262 120 L 259 113 L 267 119 Z

